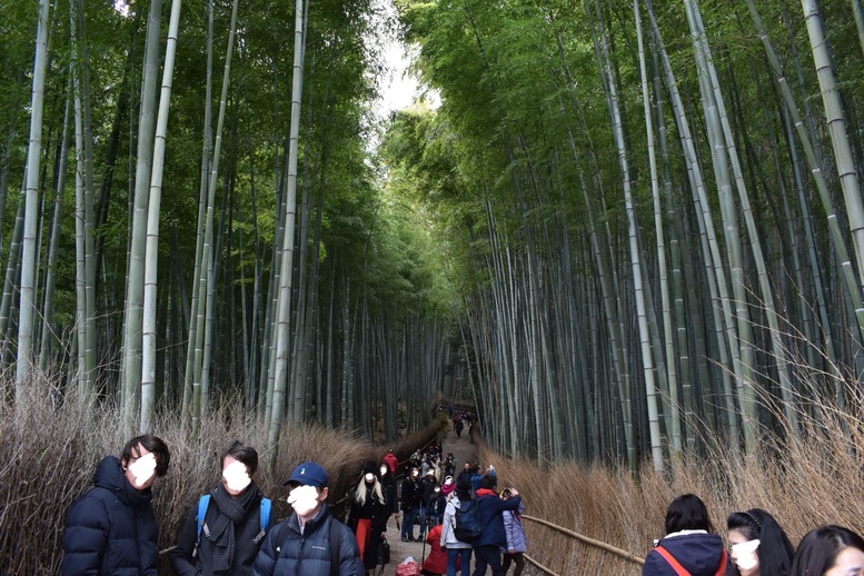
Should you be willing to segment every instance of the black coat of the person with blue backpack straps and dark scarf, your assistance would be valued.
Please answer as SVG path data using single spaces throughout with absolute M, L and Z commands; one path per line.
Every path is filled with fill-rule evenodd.
M 258 491 L 257 488 L 255 488 Z M 270 512 L 270 524 L 276 510 Z M 221 516 L 216 499 L 210 496 L 210 505 L 207 507 L 205 523 L 208 526 L 215 526 Z M 261 493 L 258 491 L 249 504 L 249 512 L 238 524 L 235 524 L 235 549 L 231 569 L 227 572 L 213 573 L 213 553 L 216 545 L 210 542 L 201 530 L 201 548 L 193 557 L 196 543 L 198 542 L 198 500 L 196 500 L 189 515 L 186 517 L 186 524 L 177 538 L 177 548 L 171 553 L 171 569 L 179 576 L 209 576 L 211 574 L 226 575 L 248 575 L 252 573 L 252 564 L 258 550 L 264 542 L 264 535 L 258 538 L 261 532 Z M 256 542 L 256 538 L 257 542 Z

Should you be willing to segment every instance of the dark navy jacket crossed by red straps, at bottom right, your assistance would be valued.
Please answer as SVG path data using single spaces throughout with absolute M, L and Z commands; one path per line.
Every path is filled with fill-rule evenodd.
M 726 554 L 723 539 L 716 534 L 704 530 L 668 534 L 659 545 L 666 548 L 691 573 L 691 576 L 714 576 Z M 657 550 L 648 553 L 642 574 L 643 576 L 677 576 L 675 568 Z

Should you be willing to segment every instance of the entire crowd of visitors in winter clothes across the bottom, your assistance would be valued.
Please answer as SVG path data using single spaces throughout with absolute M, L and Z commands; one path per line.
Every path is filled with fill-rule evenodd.
M 93 487 L 67 514 L 62 575 L 158 574 L 159 534 L 150 500 L 169 464 L 168 447 L 151 435 L 129 440 L 119 458 L 102 459 Z M 271 501 L 255 484 L 255 448 L 232 443 L 220 466 L 221 481 L 189 509 L 171 552 L 178 575 L 369 575 L 389 562 L 387 524 L 393 516 L 398 526 L 400 513 L 401 539 L 429 544 L 424 576 L 487 570 L 501 576 L 510 566 L 519 576 L 525 567 L 525 503 L 518 490 L 499 491 L 491 465 L 484 469 L 466 461 L 454 477 L 453 454 L 443 458 L 440 446 L 413 454 L 398 486 L 393 450 L 379 464 L 366 463 L 351 491 L 347 525 L 330 513 L 329 474 L 317 463 L 297 466 L 284 484 L 294 514 L 280 523 L 272 522 Z M 675 498 L 666 512 L 666 535 L 655 542 L 643 576 L 864 576 L 864 539 L 848 528 L 816 528 L 797 550 L 761 508 L 732 513 L 726 528 L 728 550 L 701 498 Z

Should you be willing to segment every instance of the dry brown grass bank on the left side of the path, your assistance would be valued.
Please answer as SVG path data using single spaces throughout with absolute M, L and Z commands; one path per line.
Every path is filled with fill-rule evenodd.
M 10 383 L 6 379 L 7 384 Z M 9 388 L 7 387 L 7 390 Z M 69 506 L 92 486 L 97 464 L 106 455 L 120 456 L 128 440 L 119 411 L 91 403 L 64 403 L 54 383 L 37 378 L 18 410 L 0 403 L 0 574 L 57 574 L 62 556 L 62 532 Z M 219 455 L 235 439 L 259 450 L 256 481 L 274 500 L 278 518 L 290 514 L 282 483 L 295 466 L 320 463 L 331 475 L 328 501 L 341 514 L 344 496 L 356 485 L 366 460 L 380 461 L 386 447 L 356 435 L 321 427 L 286 425 L 275 473 L 267 470 L 267 429 L 245 414 L 241 403 L 226 399 L 201 424 L 200 440 L 181 426 L 177 411 L 162 410 L 153 434 L 171 450 L 168 475 L 157 480 L 153 507 L 159 522 L 160 548 L 173 545 L 189 509 L 219 480 Z M 410 453 L 435 438 L 438 423 L 404 438 L 397 448 Z M 168 574 L 167 557 L 162 572 Z

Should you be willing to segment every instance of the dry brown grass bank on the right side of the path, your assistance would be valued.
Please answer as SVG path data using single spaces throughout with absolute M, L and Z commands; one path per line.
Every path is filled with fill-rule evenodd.
M 818 415 L 818 419 L 815 415 Z M 715 530 L 726 517 L 759 507 L 772 513 L 793 545 L 816 526 L 838 524 L 864 533 L 864 401 L 851 394 L 838 410 L 821 405 L 800 415 L 801 435 L 781 440 L 764 431 L 749 457 L 714 443 L 705 457 L 683 457 L 657 473 L 646 463 L 638 483 L 626 466 L 507 460 L 480 445 L 484 464 L 498 470 L 499 488 L 515 486 L 526 515 L 543 518 L 644 557 L 664 535 L 666 507 L 676 496 L 698 495 Z M 528 555 L 563 575 L 638 575 L 640 566 L 530 520 Z

